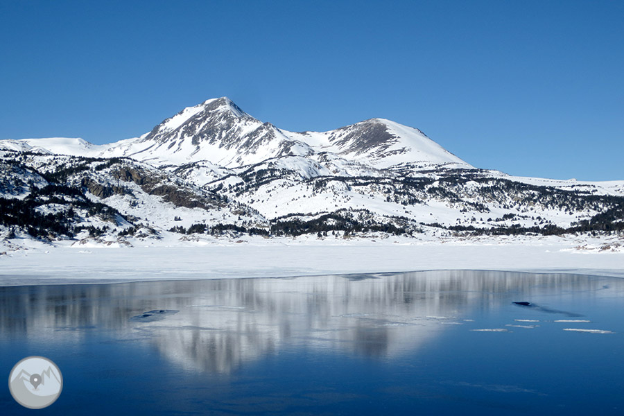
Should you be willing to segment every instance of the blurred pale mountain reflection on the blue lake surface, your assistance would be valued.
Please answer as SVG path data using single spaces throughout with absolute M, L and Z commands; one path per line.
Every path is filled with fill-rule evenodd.
M 462 324 L 468 312 L 538 293 L 623 286 L 605 288 L 579 275 L 483 271 L 21 286 L 0 288 L 0 329 L 3 338 L 52 343 L 79 343 L 94 331 L 142 340 L 184 370 L 228 373 L 293 347 L 395 358 Z M 161 309 L 179 312 L 132 320 Z

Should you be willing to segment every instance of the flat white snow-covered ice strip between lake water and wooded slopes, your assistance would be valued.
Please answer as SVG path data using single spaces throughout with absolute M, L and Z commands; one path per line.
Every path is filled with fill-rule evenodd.
M 142 243 L 142 245 L 141 245 Z M 6 250 L 6 251 L 5 251 Z M 621 237 L 416 241 L 202 239 L 0 248 L 0 284 L 291 277 L 415 270 L 516 270 L 624 277 Z

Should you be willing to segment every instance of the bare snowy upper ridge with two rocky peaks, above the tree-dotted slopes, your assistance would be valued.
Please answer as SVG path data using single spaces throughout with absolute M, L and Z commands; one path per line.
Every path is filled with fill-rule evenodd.
M 370 119 L 327 132 L 288 132 L 263 123 L 229 98 L 213 98 L 184 110 L 150 132 L 97 146 L 62 137 L 0 141 L 0 149 L 85 157 L 132 157 L 156 165 L 210 162 L 235 168 L 283 156 L 334 153 L 374 168 L 395 164 L 456 164 L 471 168 L 420 130 Z

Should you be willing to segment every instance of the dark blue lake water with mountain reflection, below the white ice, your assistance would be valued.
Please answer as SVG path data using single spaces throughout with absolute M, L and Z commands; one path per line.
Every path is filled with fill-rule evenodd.
M 624 279 L 449 271 L 3 287 L 0 331 L 2 374 L 41 355 L 64 378 L 43 410 L 21 408 L 5 384 L 0 415 L 624 414 Z

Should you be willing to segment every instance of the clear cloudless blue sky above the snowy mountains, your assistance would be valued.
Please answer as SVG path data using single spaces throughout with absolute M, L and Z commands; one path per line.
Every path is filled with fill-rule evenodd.
M 514 175 L 624 179 L 624 1 L 0 1 L 0 139 L 136 137 L 229 96 L 383 117 Z

